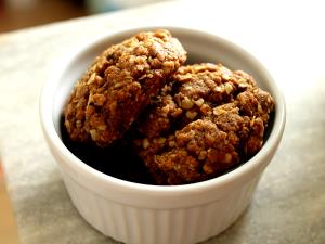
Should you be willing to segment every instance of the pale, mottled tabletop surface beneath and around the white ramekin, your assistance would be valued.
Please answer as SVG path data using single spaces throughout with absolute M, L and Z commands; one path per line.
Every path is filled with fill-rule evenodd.
M 0 153 L 21 243 L 116 243 L 73 206 L 41 132 L 38 99 L 65 53 L 104 33 L 148 24 L 190 26 L 240 44 L 286 99 L 283 141 L 252 203 L 205 243 L 325 243 L 324 23 L 322 1 L 187 0 L 0 35 Z

